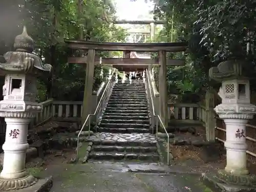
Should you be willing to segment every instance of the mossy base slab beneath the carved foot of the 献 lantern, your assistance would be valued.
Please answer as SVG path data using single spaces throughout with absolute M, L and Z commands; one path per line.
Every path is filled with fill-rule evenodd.
M 256 192 L 256 187 L 248 187 L 242 185 L 226 184 L 218 180 L 215 174 L 202 174 L 202 182 L 212 191 L 219 192 Z

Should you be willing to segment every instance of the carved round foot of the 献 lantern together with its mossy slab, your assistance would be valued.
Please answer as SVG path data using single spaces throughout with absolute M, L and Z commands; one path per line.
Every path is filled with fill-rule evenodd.
M 202 174 L 201 180 L 212 191 L 246 192 L 256 191 L 255 175 L 232 175 L 225 170 L 218 173 Z

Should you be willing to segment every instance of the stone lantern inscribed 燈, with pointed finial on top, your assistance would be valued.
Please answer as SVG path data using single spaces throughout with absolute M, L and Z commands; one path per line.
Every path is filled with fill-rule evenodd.
M 0 191 L 29 187 L 37 179 L 26 171 L 26 151 L 28 148 L 28 125 L 42 106 L 35 102 L 36 74 L 50 72 L 51 65 L 42 65 L 33 53 L 34 41 L 28 36 L 26 27 L 16 36 L 15 51 L 1 57 L 1 73 L 5 75 L 4 100 L 0 101 L 0 116 L 6 121 L 6 140 L 3 145 L 4 164 L 0 174 Z

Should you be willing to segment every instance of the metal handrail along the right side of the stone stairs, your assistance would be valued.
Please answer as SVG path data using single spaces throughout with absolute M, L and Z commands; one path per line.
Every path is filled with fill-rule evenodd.
M 169 134 L 166 131 L 165 126 L 164 126 L 160 116 L 156 115 L 156 113 L 155 113 L 155 106 L 154 106 L 154 102 L 153 102 L 153 94 L 152 94 L 151 85 L 150 85 L 150 75 L 148 74 L 147 69 L 146 69 L 146 76 L 147 76 L 147 86 L 150 88 L 150 98 L 151 98 L 151 105 L 152 105 L 153 116 L 154 116 L 154 118 L 157 117 L 159 119 L 159 121 L 160 121 L 160 123 L 161 123 L 161 125 L 162 125 L 162 127 L 163 127 L 163 129 L 164 129 L 164 131 L 166 133 L 166 135 L 167 135 L 167 142 L 168 142 L 168 145 L 167 145 L 167 150 L 168 150 L 168 152 L 167 152 L 167 164 L 169 165 L 169 153 L 170 153 L 169 152 L 169 145 L 170 145 L 169 144 Z M 152 132 L 153 133 L 154 133 L 154 118 L 152 119 L 152 126 L 153 126 Z M 158 120 L 156 120 L 156 138 L 158 140 Z

